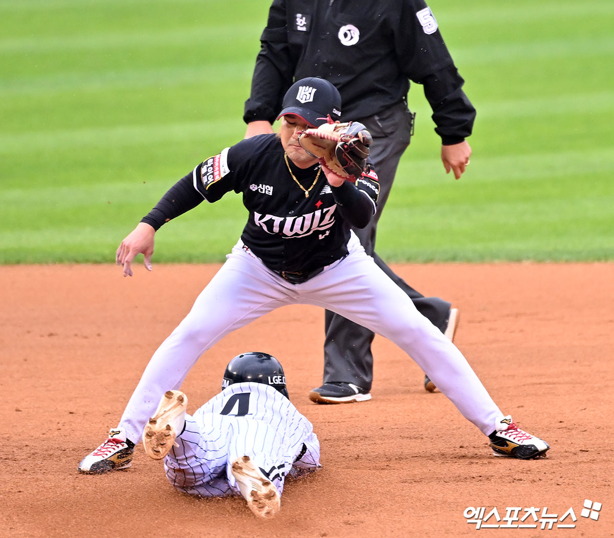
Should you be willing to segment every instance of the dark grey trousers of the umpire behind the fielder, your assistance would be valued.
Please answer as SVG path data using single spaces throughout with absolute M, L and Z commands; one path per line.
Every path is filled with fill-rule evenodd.
M 373 136 L 371 160 L 379 178 L 378 212 L 363 229 L 354 229 L 367 254 L 413 301 L 418 311 L 429 318 L 442 332 L 448 322 L 450 303 L 438 297 L 424 297 L 395 274 L 375 253 L 375 235 L 379 218 L 392 189 L 398 162 L 410 144 L 412 115 L 405 101 L 382 114 L 359 120 Z M 346 318 L 326 311 L 324 342 L 324 382 L 353 383 L 371 390 L 373 354 L 371 342 L 375 334 Z

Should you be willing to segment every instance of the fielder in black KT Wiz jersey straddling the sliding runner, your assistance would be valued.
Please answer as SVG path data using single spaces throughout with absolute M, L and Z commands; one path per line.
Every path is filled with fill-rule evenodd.
M 151 269 L 153 237 L 163 224 L 235 191 L 249 211 L 241 238 L 177 328 L 153 354 L 117 428 L 79 465 L 100 473 L 130 465 L 131 451 L 168 390 L 178 390 L 196 360 L 226 334 L 287 304 L 321 306 L 365 325 L 405 350 L 459 411 L 486 435 L 495 452 L 537 457 L 542 440 L 504 417 L 467 360 L 414 307 L 365 253 L 351 227 L 376 212 L 375 172 L 355 182 L 322 169 L 298 137 L 340 116 L 330 82 L 301 79 L 290 87 L 278 135 L 240 141 L 198 164 L 162 197 L 117 249 L 125 276 L 139 253 Z M 513 444 L 508 443 L 513 438 Z

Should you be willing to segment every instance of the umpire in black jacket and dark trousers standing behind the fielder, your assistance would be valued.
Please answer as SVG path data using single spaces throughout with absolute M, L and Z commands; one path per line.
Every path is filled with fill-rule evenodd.
M 373 136 L 371 159 L 378 172 L 378 213 L 354 229 L 368 254 L 448 338 L 458 310 L 448 301 L 424 298 L 374 252 L 378 220 L 392 188 L 397 165 L 410 143 L 414 116 L 407 107 L 410 80 L 424 87 L 441 137 L 446 172 L 460 178 L 469 164 L 475 109 L 424 0 L 274 0 L 252 89 L 246 101 L 246 136 L 272 132 L 282 97 L 295 79 L 319 76 L 343 99 L 341 121 L 364 124 Z M 309 397 L 319 403 L 368 400 L 373 382 L 373 332 L 333 312 L 326 313 L 324 384 Z M 426 376 L 429 392 L 435 384 Z

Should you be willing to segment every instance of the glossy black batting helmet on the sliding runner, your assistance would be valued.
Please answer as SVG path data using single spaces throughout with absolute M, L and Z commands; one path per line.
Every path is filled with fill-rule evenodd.
M 268 353 L 250 351 L 233 358 L 226 366 L 222 389 L 233 383 L 246 381 L 270 385 L 279 390 L 286 398 L 289 398 L 284 369 L 281 367 L 281 363 Z

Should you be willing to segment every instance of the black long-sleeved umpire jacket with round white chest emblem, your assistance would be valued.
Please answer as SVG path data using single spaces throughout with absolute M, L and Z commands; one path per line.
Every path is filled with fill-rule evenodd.
M 290 85 L 320 76 L 341 93 L 341 121 L 406 100 L 411 80 L 424 85 L 444 144 L 472 132 L 475 108 L 422 0 L 274 0 L 260 41 L 247 123 L 273 123 Z

